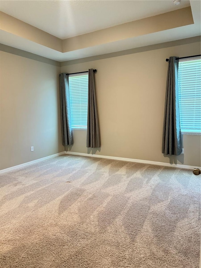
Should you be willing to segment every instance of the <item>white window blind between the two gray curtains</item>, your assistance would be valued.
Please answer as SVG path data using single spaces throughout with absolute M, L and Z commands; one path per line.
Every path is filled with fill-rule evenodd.
M 74 129 L 87 128 L 88 74 L 69 75 L 71 123 Z

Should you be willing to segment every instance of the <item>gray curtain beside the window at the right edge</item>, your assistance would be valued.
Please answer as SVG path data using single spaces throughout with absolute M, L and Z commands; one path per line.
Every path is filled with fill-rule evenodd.
M 182 152 L 178 97 L 179 61 L 175 58 L 170 57 L 168 62 L 162 142 L 162 153 L 170 156 L 178 156 Z

